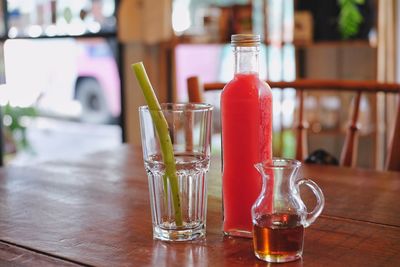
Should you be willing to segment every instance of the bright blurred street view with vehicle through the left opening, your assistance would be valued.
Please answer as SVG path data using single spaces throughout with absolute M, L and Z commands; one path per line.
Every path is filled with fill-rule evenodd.
M 2 1 L 6 164 L 76 158 L 122 142 L 114 0 Z

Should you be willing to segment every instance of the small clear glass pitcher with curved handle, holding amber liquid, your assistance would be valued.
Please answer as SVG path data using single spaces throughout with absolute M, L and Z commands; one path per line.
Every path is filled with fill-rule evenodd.
M 276 158 L 255 164 L 263 177 L 260 196 L 251 211 L 254 253 L 261 260 L 288 262 L 301 258 L 304 228 L 322 212 L 324 195 L 315 182 L 297 176 L 300 166 L 297 160 Z M 312 212 L 300 198 L 303 184 L 317 198 Z

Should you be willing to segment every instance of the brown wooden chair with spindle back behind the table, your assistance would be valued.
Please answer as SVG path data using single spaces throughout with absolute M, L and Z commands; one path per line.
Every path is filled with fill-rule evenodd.
M 378 83 L 374 81 L 339 81 L 339 80 L 296 80 L 292 82 L 267 81 L 271 88 L 294 88 L 299 100 L 298 118 L 295 125 L 296 131 L 296 159 L 303 161 L 307 155 L 307 122 L 304 116 L 304 92 L 319 91 L 347 91 L 355 94 L 350 123 L 346 132 L 345 142 L 340 156 L 340 165 L 355 166 L 358 148 L 358 119 L 362 93 L 397 93 L 399 104 L 396 114 L 396 122 L 390 137 L 388 153 L 386 157 L 387 170 L 400 171 L 400 84 Z M 197 76 L 187 79 L 188 95 L 190 102 L 203 102 L 205 91 L 221 90 L 225 83 L 203 84 Z

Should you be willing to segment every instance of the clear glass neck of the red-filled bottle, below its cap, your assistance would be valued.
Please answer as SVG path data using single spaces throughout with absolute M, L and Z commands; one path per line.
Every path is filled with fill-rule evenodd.
M 235 55 L 235 74 L 258 75 L 258 46 L 236 46 L 233 52 Z

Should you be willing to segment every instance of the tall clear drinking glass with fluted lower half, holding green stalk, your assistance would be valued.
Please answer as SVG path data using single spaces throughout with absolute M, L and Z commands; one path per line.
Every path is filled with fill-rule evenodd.
M 175 157 L 176 180 L 172 181 L 166 175 L 151 117 L 151 112 L 157 111 L 139 108 L 155 239 L 188 241 L 205 236 L 212 109 L 208 104 L 161 104 Z

